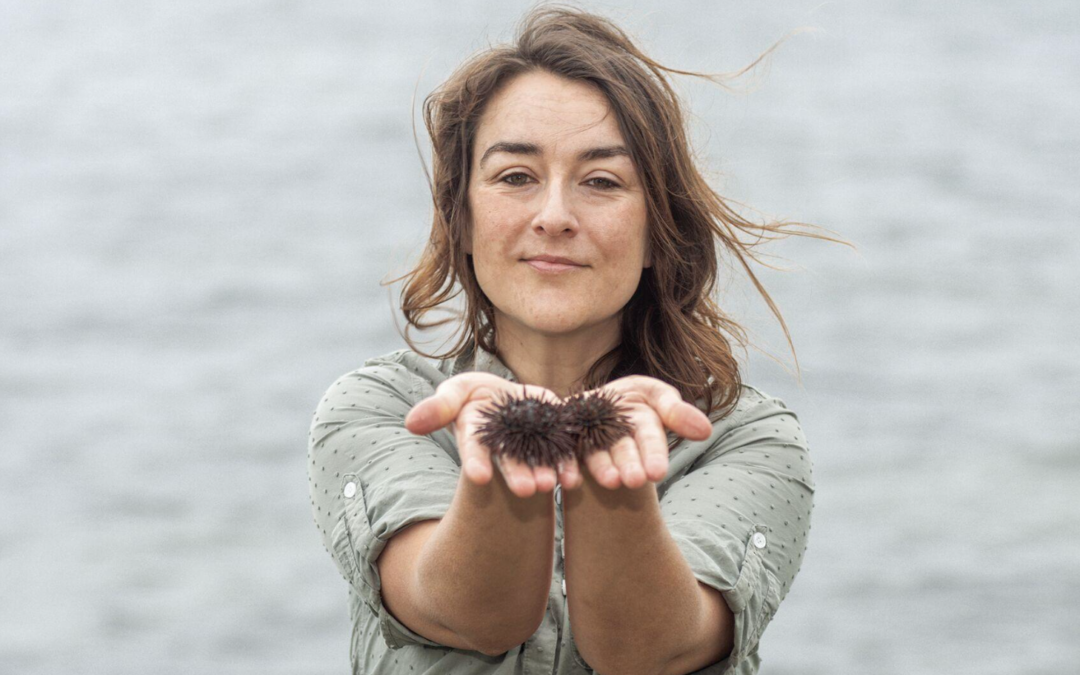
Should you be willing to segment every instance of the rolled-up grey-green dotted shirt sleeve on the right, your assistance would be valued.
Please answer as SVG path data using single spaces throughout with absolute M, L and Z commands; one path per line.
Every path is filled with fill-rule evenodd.
M 694 577 L 734 616 L 731 653 L 699 673 L 757 672 L 758 640 L 787 595 L 810 532 L 814 484 L 795 413 L 746 387 L 730 423 L 662 497 L 669 531 Z

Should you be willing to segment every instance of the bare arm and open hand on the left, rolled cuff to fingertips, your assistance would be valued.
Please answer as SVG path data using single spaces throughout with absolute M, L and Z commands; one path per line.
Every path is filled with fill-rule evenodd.
M 416 434 L 454 424 L 463 472 L 437 525 L 421 525 L 420 534 L 391 541 L 383 552 L 388 608 L 401 621 L 490 656 L 522 644 L 540 625 L 555 553 L 555 471 L 510 460 L 492 465 L 476 438 L 476 410 L 490 404 L 492 392 L 512 387 L 465 373 L 409 411 L 405 424 Z

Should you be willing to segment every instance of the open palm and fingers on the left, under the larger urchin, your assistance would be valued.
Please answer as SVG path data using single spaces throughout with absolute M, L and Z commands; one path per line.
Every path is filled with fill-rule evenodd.
M 465 477 L 476 485 L 486 485 L 491 480 L 491 451 L 480 442 L 477 429 L 485 422 L 481 411 L 495 405 L 500 392 L 522 394 L 523 384 L 516 384 L 490 373 L 461 373 L 442 382 L 435 394 L 417 403 L 405 417 L 405 428 L 417 435 L 426 435 L 453 423 L 458 442 L 458 455 Z M 542 396 L 545 401 L 558 402 L 551 390 L 535 384 L 524 384 L 530 396 Z M 518 497 L 531 497 L 537 491 L 554 489 L 556 475 L 551 467 L 529 467 L 527 463 L 500 456 L 494 462 L 502 472 L 507 486 Z M 576 462 L 561 469 L 561 477 L 566 487 L 575 487 L 581 482 Z

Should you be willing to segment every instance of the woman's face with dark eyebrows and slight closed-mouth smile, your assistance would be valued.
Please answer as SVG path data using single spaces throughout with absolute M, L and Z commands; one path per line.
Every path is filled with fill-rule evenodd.
M 651 261 L 644 189 L 604 95 L 517 76 L 488 103 L 472 157 L 467 251 L 497 325 L 545 336 L 618 325 Z

